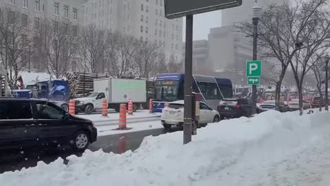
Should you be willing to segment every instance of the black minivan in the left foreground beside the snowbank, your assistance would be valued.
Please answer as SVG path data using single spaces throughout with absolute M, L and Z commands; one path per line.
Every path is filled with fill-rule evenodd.
M 91 121 L 72 116 L 54 103 L 0 99 L 0 151 L 71 145 L 81 152 L 96 137 Z

